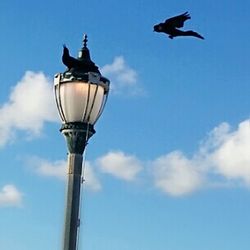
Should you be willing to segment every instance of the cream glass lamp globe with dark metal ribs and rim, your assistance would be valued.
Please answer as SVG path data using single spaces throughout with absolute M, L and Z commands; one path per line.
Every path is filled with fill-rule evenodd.
M 54 85 L 56 104 L 63 123 L 96 123 L 107 101 L 108 79 L 95 72 L 85 73 L 78 79 L 57 74 Z

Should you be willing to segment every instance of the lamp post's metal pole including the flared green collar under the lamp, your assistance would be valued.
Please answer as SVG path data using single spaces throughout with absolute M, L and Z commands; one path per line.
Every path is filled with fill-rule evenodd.
M 79 205 L 81 193 L 82 161 L 88 139 L 95 133 L 93 125 L 85 123 L 63 124 L 61 132 L 68 148 L 68 183 L 63 235 L 63 250 L 76 250 L 80 225 Z

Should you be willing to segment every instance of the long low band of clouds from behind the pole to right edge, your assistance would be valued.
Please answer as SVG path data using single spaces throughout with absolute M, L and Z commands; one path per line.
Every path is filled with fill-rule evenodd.
M 86 185 L 92 190 L 101 189 L 96 177 L 96 171 L 99 171 L 99 174 L 109 174 L 128 183 L 143 176 L 156 190 L 171 196 L 183 196 L 208 188 L 239 185 L 250 188 L 249 148 L 250 120 L 241 122 L 235 129 L 222 123 L 208 134 L 191 156 L 176 150 L 151 161 L 143 161 L 119 150 L 110 151 L 86 162 Z M 39 175 L 65 179 L 65 161 L 36 159 L 32 161 L 33 166 L 34 162 L 34 169 Z

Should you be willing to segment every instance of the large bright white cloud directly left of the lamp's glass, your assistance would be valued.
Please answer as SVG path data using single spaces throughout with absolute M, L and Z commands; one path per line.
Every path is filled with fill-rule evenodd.
M 44 122 L 58 120 L 52 87 L 43 73 L 25 73 L 0 107 L 0 146 L 13 139 L 17 130 L 37 136 Z

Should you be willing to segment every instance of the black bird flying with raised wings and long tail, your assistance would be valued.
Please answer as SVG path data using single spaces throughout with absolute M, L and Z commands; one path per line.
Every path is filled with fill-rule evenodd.
M 176 36 L 194 36 L 200 39 L 204 39 L 203 36 L 194 32 L 192 30 L 183 31 L 177 28 L 182 28 L 184 26 L 184 22 L 188 19 L 191 19 L 188 12 L 185 12 L 179 16 L 171 17 L 167 19 L 164 23 L 159 23 L 154 26 L 154 31 L 163 32 L 168 34 L 169 38 L 173 39 Z

